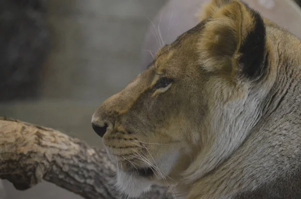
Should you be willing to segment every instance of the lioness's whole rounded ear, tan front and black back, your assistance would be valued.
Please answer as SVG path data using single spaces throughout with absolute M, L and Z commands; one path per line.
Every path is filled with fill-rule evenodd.
M 200 61 L 209 71 L 255 77 L 265 66 L 265 26 L 260 14 L 239 0 L 212 0 L 199 41 Z

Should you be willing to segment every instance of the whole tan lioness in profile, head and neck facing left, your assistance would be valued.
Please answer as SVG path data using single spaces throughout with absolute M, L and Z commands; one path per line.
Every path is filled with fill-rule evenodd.
M 301 198 L 301 41 L 239 0 L 201 22 L 94 112 L 119 189 Z

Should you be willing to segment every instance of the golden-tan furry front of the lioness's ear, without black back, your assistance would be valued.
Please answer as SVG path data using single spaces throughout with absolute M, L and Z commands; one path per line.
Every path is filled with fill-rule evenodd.
M 240 56 L 238 48 L 247 33 L 253 29 L 254 20 L 240 2 L 233 1 L 218 9 L 216 4 L 210 5 L 207 9 L 213 11 L 208 13 L 212 19 L 206 24 L 200 37 L 201 64 L 208 71 L 233 69 Z

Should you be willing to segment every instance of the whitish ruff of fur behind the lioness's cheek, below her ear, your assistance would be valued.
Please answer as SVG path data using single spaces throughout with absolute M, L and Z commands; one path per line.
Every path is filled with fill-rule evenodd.
M 250 95 L 241 101 L 228 102 L 226 106 L 217 107 L 209 113 L 210 127 L 206 129 L 206 134 L 211 136 L 187 169 L 187 180 L 201 178 L 216 168 L 240 146 L 261 119 L 260 97 Z

